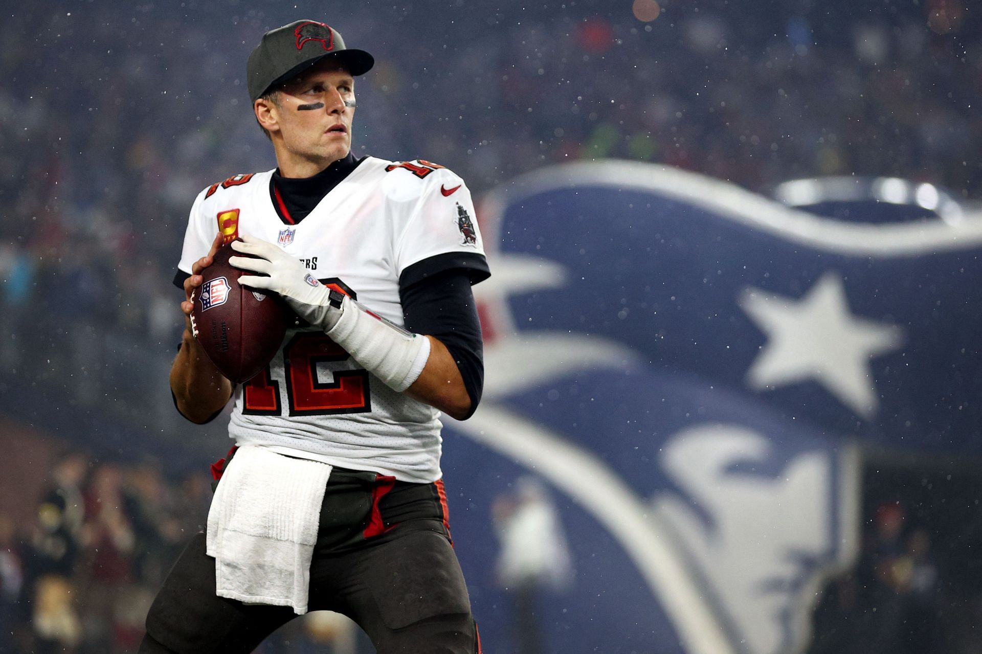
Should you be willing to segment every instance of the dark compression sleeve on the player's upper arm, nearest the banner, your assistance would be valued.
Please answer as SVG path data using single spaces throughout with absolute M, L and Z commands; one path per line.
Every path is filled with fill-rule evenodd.
M 408 287 L 400 285 L 399 297 L 406 328 L 438 339 L 457 362 L 470 398 L 470 417 L 484 388 L 484 348 L 469 272 L 455 268 Z

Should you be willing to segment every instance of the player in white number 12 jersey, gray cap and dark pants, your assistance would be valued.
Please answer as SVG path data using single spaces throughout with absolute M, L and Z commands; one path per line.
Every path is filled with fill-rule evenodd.
M 307 611 L 345 614 L 378 652 L 474 654 L 477 627 L 448 522 L 440 412 L 481 396 L 470 287 L 489 276 L 464 181 L 425 160 L 352 152 L 355 78 L 374 60 L 332 27 L 266 32 L 247 63 L 277 168 L 238 174 L 191 207 L 175 283 L 186 329 L 175 406 L 206 422 L 231 400 L 235 448 L 207 529 L 146 619 L 140 652 L 251 652 Z M 297 314 L 245 384 L 187 319 L 201 272 L 231 244 L 239 283 Z

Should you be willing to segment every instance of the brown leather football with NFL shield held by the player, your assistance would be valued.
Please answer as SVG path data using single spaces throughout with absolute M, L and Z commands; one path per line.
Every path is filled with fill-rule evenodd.
M 246 382 L 269 363 L 287 332 L 287 310 L 275 294 L 240 286 L 248 273 L 232 266 L 236 252 L 223 245 L 214 263 L 201 271 L 201 286 L 191 294 L 191 329 L 205 354 L 226 378 Z

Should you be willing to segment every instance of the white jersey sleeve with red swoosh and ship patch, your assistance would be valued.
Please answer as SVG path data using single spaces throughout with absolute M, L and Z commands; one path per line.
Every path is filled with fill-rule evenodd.
M 402 279 L 412 265 L 442 254 L 462 255 L 447 257 L 443 267 L 466 262 L 463 267 L 477 265 L 486 270 L 484 242 L 464 180 L 446 168 L 437 168 L 422 180 L 406 177 L 409 184 L 421 184 L 422 188 L 402 233 L 397 235 L 397 275 Z

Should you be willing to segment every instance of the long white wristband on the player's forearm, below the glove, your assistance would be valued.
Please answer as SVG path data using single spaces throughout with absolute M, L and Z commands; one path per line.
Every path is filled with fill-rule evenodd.
M 337 323 L 325 333 L 365 370 L 400 393 L 419 377 L 429 359 L 428 338 L 369 312 L 347 296 Z

